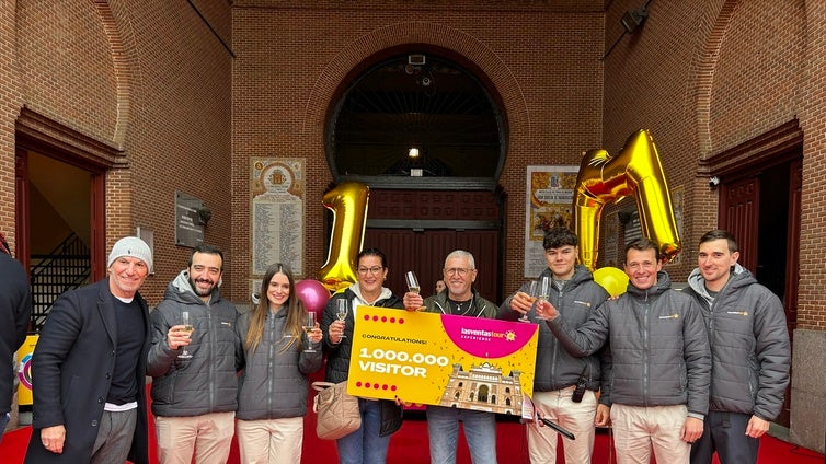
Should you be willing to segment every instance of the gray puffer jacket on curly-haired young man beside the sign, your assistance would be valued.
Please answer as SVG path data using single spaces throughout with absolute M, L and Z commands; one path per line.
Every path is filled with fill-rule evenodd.
M 542 278 L 543 276 L 551 278 L 551 270 L 544 269 L 539 277 Z M 523 285 L 518 291 L 527 293 L 529 291 L 528 283 Z M 498 318 L 516 321 L 519 317 L 519 313 L 510 309 L 510 301 L 515 294 L 512 294 L 502 303 Z M 573 277 L 565 283 L 565 287 L 562 290 L 551 292 L 549 298 L 551 304 L 565 317 L 565 321 L 572 327 L 578 327 L 608 299 L 608 292 L 594 281 L 594 276 L 587 267 L 577 265 L 574 268 Z M 528 312 L 528 317 L 537 322 L 535 309 Z M 601 379 L 599 355 L 601 352 L 582 358 L 572 356 L 560 345 L 548 326 L 540 324 L 534 391 L 553 392 L 575 385 L 583 370 L 585 371 L 587 388 L 599 390 Z

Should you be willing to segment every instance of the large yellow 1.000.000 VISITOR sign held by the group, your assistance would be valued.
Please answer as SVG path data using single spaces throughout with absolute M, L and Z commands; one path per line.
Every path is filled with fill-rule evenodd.
M 347 393 L 523 415 L 539 326 L 359 306 Z

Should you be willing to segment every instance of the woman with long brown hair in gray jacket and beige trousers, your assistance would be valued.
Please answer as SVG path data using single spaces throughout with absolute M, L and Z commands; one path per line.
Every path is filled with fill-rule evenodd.
M 307 309 L 292 272 L 269 266 L 259 302 L 236 324 L 243 371 L 236 434 L 243 463 L 301 462 L 308 375 L 321 369 L 319 324 L 305 332 Z

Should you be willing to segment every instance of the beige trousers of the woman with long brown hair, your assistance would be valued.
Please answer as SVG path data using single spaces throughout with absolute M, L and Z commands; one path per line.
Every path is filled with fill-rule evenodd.
M 244 464 L 295 464 L 301 462 L 303 417 L 238 420 L 236 436 Z

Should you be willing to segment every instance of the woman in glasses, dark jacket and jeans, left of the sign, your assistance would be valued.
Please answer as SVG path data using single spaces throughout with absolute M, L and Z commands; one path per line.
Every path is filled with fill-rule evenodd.
M 326 381 L 339 383 L 347 380 L 349 355 L 353 348 L 353 325 L 359 305 L 402 309 L 403 303 L 383 286 L 387 279 L 387 257 L 378 248 L 365 248 L 356 256 L 356 282 L 343 293 L 336 293 L 328 302 L 321 317 L 324 351 L 328 353 Z M 336 317 L 340 300 L 347 302 L 344 321 Z M 390 434 L 399 430 L 402 409 L 388 399 L 358 398 L 362 427 L 336 440 L 339 460 L 342 464 L 383 464 L 390 445 Z

